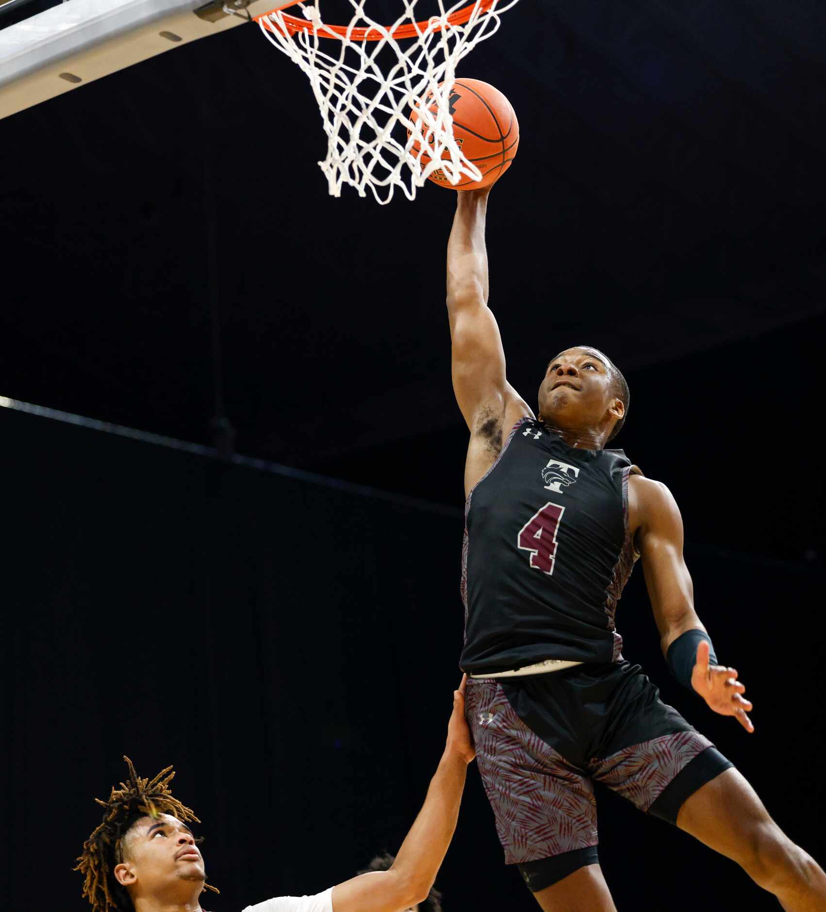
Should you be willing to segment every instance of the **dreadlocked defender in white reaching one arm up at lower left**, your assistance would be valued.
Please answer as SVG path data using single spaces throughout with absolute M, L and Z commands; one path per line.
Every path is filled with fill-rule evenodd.
M 244 912 L 416 912 L 418 903 L 438 896 L 431 887 L 456 828 L 473 759 L 464 694 L 462 680 L 425 803 L 387 870 L 363 873 L 317 896 L 267 899 Z M 98 801 L 106 809 L 103 821 L 77 859 L 92 912 L 203 912 L 203 890 L 218 892 L 206 884 L 203 856 L 188 825 L 198 818 L 170 792 L 170 770 L 149 781 L 129 762 L 128 781 L 112 789 L 108 802 Z

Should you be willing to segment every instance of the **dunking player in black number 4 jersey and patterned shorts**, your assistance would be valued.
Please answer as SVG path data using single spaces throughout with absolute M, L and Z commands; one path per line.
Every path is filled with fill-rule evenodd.
M 505 378 L 487 306 L 488 191 L 457 197 L 448 313 L 470 429 L 461 667 L 506 862 L 543 909 L 614 910 L 597 859 L 596 780 L 737 861 L 785 909 L 826 909 L 821 868 L 623 660 L 614 612 L 640 557 L 676 679 L 753 731 L 738 673 L 718 665 L 694 610 L 674 498 L 604 449 L 625 421 L 625 379 L 596 349 L 569 348 L 548 363 L 533 417 Z

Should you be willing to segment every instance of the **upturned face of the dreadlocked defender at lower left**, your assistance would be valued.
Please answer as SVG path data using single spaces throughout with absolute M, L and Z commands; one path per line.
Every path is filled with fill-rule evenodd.
M 170 814 L 160 814 L 157 820 L 141 817 L 133 824 L 125 839 L 123 867 L 128 880 L 119 880 L 139 896 L 202 888 L 206 879 L 201 850 L 191 829 Z

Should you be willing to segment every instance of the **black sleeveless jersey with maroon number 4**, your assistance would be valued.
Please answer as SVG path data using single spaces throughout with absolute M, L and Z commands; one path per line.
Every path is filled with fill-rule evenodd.
M 636 558 L 631 471 L 621 450 L 578 450 L 539 421 L 516 423 L 465 506 L 465 671 L 623 660 L 614 613 Z

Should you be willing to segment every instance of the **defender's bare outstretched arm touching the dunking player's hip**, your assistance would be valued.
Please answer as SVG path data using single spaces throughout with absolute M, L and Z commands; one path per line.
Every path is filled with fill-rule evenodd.
M 448 851 L 468 763 L 475 751 L 465 720 L 465 683 L 453 693 L 448 740 L 428 795 L 387 871 L 353 877 L 333 887 L 333 912 L 401 912 L 428 898 Z

